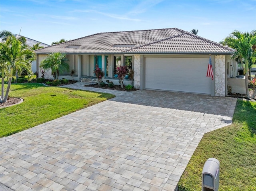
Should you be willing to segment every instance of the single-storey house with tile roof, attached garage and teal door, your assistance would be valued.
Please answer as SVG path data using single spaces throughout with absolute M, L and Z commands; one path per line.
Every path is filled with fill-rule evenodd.
M 227 78 L 237 75 L 231 59 L 234 49 L 178 28 L 96 33 L 35 52 L 37 67 L 48 53 L 66 53 L 76 80 L 93 77 L 98 64 L 105 72 L 105 80 L 118 83 L 112 79 L 114 69 L 131 61 L 136 89 L 225 96 Z M 210 54 L 213 81 L 206 77 Z M 60 77 L 71 79 L 70 72 Z

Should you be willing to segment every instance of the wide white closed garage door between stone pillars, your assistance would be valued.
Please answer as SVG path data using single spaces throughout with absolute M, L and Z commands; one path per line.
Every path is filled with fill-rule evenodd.
M 145 88 L 211 94 L 207 58 L 146 58 Z

